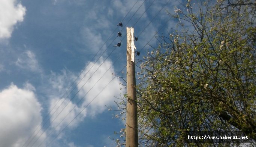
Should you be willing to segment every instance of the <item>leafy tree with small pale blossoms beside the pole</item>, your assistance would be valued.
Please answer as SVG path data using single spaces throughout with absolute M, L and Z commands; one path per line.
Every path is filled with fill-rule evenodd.
M 241 131 L 256 141 L 256 3 L 194 3 L 169 13 L 183 29 L 141 60 L 141 144 L 184 146 L 186 131 Z

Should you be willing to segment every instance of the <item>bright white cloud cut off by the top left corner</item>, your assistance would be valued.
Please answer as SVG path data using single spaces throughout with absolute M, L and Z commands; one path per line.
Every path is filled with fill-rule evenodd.
M 17 22 L 22 22 L 26 8 L 17 0 L 0 0 L 0 38 L 9 38 Z

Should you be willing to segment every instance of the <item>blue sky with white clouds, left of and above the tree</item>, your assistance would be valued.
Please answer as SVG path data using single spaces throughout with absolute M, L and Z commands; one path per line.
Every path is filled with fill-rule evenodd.
M 166 9 L 180 3 L 167 1 L 0 0 L 0 147 L 116 146 L 108 137 L 124 122 L 106 106 L 125 93 L 112 73 L 126 73 L 126 27 L 142 59 L 156 32 L 175 28 Z

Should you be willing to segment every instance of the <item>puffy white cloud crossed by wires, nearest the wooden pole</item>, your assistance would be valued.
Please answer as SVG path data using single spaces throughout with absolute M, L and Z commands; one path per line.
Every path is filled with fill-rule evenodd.
M 81 74 L 81 76 L 79 78 L 79 81 L 80 81 L 84 77 L 84 75 L 88 72 L 85 75 L 84 79 L 82 79 L 82 81 L 78 84 L 78 89 L 82 88 L 79 92 L 79 96 L 83 97 L 86 94 L 83 106 L 86 106 L 88 103 L 90 103 L 90 101 L 92 101 L 93 98 L 96 97 L 96 95 L 99 94 L 101 90 L 103 90 L 103 88 L 111 81 L 111 79 L 114 78 L 114 76 L 112 75 L 112 73 L 114 73 L 114 68 L 113 67 L 110 68 L 110 66 L 112 65 L 112 62 L 109 60 L 106 60 L 102 64 L 102 66 L 100 66 L 100 64 L 102 62 L 103 62 L 103 59 L 100 58 L 100 60 L 94 66 L 93 66 L 93 62 L 89 63 L 88 66 L 86 67 L 85 71 Z M 99 66 L 100 66 L 100 68 L 99 68 Z M 99 69 L 97 70 L 97 68 L 99 68 Z M 106 72 L 108 69 L 109 69 L 109 71 Z M 101 78 L 101 76 L 105 72 L 106 72 L 106 74 Z M 99 80 L 99 82 L 97 82 L 98 80 Z M 86 84 L 85 84 L 85 82 L 86 82 Z M 115 78 L 90 103 L 90 105 L 88 105 L 88 113 L 90 112 L 91 116 L 94 116 L 97 113 L 102 113 L 103 110 L 106 109 L 105 106 L 114 104 L 115 96 L 118 96 L 121 93 L 121 91 L 120 91 L 121 85 L 119 83 L 120 83 L 119 79 Z

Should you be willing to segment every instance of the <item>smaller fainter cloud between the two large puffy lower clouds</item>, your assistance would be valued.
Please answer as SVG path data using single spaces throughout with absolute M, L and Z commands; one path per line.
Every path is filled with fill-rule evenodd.
M 49 77 L 49 85 L 45 91 L 47 92 L 47 97 L 50 99 L 49 112 L 51 116 L 51 127 L 53 130 L 57 131 L 57 133 L 66 127 L 82 110 L 82 107 L 78 107 L 73 101 L 70 101 L 72 94 L 69 94 L 75 86 L 72 85 L 75 78 L 75 75 L 66 69 L 63 69 L 61 74 L 52 72 Z M 72 85 L 72 87 L 70 87 L 70 85 Z M 86 109 L 69 124 L 68 128 L 76 127 L 85 116 Z M 59 138 L 61 138 L 61 136 Z

